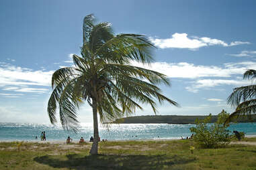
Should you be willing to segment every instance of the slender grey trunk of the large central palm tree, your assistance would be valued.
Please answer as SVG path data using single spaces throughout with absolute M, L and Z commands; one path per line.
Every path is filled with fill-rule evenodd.
M 96 99 L 93 98 L 93 145 L 91 146 L 91 155 L 98 154 L 98 140 L 99 140 L 99 129 L 97 119 L 97 103 Z

